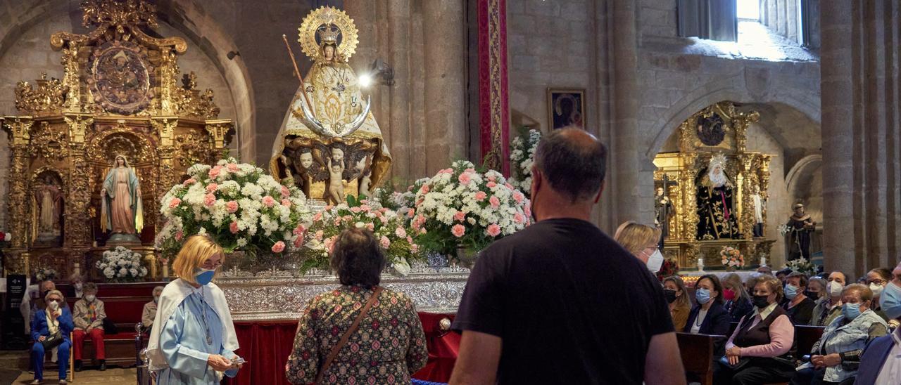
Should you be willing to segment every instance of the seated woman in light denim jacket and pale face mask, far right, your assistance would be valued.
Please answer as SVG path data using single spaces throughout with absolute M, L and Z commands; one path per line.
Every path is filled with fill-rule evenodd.
M 885 319 L 872 309 L 873 291 L 860 283 L 842 291 L 842 315 L 835 318 L 810 352 L 810 363 L 798 368 L 792 384 L 851 384 L 860 354 L 869 341 L 888 333 Z

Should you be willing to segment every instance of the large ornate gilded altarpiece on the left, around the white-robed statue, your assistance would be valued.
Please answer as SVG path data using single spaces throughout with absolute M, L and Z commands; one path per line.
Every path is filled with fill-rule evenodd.
M 179 78 L 177 58 L 186 41 L 150 36 L 157 25 L 152 4 L 91 0 L 82 9 L 85 26 L 94 31 L 50 37 L 61 51 L 62 78 L 19 82 L 19 115 L 0 118 L 12 150 L 8 209 L 15 237 L 6 271 L 46 266 L 66 275 L 80 265 L 82 273 L 96 275 L 93 261 L 111 246 L 98 246 L 106 240 L 100 194 L 114 160 L 124 157 L 146 208 L 129 247 L 145 255 L 144 265 L 157 277 L 159 197 L 187 167 L 222 155 L 232 121 L 217 119 L 213 91 L 198 90 L 194 73 Z M 48 202 L 56 212 L 41 210 Z M 53 214 L 58 217 L 45 237 L 38 223 Z

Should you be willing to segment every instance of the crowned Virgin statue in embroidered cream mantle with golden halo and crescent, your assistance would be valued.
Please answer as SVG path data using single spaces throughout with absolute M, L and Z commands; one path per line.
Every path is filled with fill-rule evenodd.
M 343 11 L 323 6 L 305 17 L 299 31 L 314 63 L 279 130 L 269 171 L 292 179 L 314 201 L 368 196 L 387 175 L 391 155 L 348 65 L 357 28 Z

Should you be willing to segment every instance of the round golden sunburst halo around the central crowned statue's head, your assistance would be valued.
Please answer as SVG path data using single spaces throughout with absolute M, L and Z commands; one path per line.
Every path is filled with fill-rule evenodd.
M 327 5 L 307 14 L 300 24 L 300 28 L 297 28 L 299 32 L 297 41 L 300 42 L 300 47 L 306 57 L 315 61 L 323 55 L 320 44 L 316 41 L 317 31 L 321 27 L 329 32 L 332 29 L 340 31 L 337 44 L 338 57 L 345 62 L 350 60 L 359 43 L 357 26 L 353 24 L 353 19 L 347 13 Z

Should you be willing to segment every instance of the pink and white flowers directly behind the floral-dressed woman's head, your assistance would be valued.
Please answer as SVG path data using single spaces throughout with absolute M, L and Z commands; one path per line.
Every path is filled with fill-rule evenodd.
M 335 239 L 344 228 L 355 227 L 369 228 L 375 234 L 397 273 L 410 273 L 410 262 L 419 256 L 419 246 L 414 240 L 414 232 L 408 227 L 407 214 L 369 203 L 365 199 L 358 201 L 349 197 L 346 203 L 317 212 L 313 224 L 305 231 L 304 246 L 308 253 L 302 269 L 328 269 L 329 253 Z

